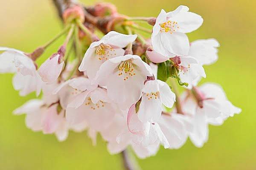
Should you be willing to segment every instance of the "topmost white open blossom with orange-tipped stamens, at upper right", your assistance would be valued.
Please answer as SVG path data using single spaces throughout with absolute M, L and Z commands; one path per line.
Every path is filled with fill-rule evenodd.
M 198 29 L 202 23 L 202 17 L 189 12 L 187 6 L 168 13 L 162 9 L 151 35 L 154 50 L 168 57 L 187 55 L 189 40 L 185 33 Z

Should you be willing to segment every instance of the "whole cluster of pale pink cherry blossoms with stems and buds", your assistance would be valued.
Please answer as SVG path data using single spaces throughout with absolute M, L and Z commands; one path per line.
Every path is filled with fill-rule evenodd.
M 241 112 L 220 85 L 197 86 L 206 77 L 203 66 L 218 59 L 219 43 L 189 41 L 186 33 L 198 29 L 203 19 L 187 6 L 162 9 L 156 18 L 133 18 L 107 3 L 76 4 L 62 17 L 63 31 L 32 53 L 0 47 L 0 73 L 14 74 L 20 96 L 34 91 L 38 96 L 14 111 L 26 114 L 29 129 L 54 133 L 59 141 L 67 139 L 69 130 L 87 130 L 94 144 L 99 133 L 110 153 L 130 146 L 145 158 L 160 145 L 178 149 L 188 137 L 202 147 L 208 125 L 221 125 Z M 105 25 L 97 25 L 104 23 L 100 20 Z M 63 35 L 57 52 L 38 67 L 36 59 Z

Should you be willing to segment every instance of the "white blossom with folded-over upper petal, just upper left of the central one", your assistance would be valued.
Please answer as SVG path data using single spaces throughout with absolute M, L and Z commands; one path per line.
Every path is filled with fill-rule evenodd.
M 79 71 L 86 71 L 87 76 L 93 79 L 103 62 L 113 57 L 123 56 L 125 50 L 122 48 L 134 42 L 136 38 L 137 35 L 108 32 L 101 40 L 91 43 L 84 54 Z

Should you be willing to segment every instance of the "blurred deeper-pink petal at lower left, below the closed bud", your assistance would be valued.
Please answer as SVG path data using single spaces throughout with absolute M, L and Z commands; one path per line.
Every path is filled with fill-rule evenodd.
M 64 119 L 61 113 L 57 113 L 57 107 L 58 104 L 52 105 L 43 113 L 41 124 L 44 134 L 54 133 Z

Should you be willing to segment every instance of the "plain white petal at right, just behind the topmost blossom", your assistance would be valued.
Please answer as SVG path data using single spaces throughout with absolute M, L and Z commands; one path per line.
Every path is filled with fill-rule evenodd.
M 210 65 L 218 60 L 219 43 L 215 39 L 191 42 L 189 55 L 195 57 L 201 65 Z

